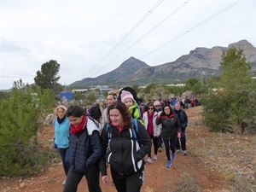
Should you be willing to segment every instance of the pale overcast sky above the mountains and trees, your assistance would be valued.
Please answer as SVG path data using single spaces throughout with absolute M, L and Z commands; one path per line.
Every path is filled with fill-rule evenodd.
M 197 47 L 256 47 L 255 0 L 1 0 L 0 9 L 0 90 L 34 83 L 50 60 L 69 85 L 131 56 L 154 67 Z

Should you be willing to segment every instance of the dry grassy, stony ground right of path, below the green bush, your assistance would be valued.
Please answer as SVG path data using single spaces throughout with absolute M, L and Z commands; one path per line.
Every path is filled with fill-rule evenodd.
M 200 123 L 196 123 L 196 126 Z M 224 174 L 232 191 L 256 191 L 256 136 L 209 133 L 198 138 L 194 154 L 212 170 Z

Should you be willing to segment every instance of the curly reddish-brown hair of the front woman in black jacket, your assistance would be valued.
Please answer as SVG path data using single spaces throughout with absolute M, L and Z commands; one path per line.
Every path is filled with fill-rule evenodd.
M 120 100 L 113 102 L 109 107 L 108 107 L 108 122 L 111 122 L 109 112 L 113 109 L 119 110 L 121 113 L 125 125 L 131 125 L 131 114 L 129 113 L 128 109 L 125 106 L 124 102 L 121 102 Z

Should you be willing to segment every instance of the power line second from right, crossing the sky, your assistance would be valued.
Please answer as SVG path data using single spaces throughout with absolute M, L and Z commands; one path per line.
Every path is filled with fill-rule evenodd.
M 186 4 L 189 3 L 190 0 L 187 0 L 186 2 L 184 2 L 181 6 L 179 6 L 177 9 L 175 9 L 170 15 L 167 15 L 165 19 L 161 20 L 156 26 L 154 26 L 151 30 L 149 30 L 147 33 L 145 33 L 143 35 L 142 38 L 139 38 L 134 44 L 131 44 L 130 47 L 128 47 L 127 49 L 125 49 L 125 51 L 123 51 L 122 53 L 120 53 L 119 55 L 117 55 L 115 58 L 113 58 L 113 60 L 109 61 L 105 66 L 103 66 L 99 71 L 102 71 L 103 68 L 107 67 L 110 63 L 112 63 L 113 61 L 115 61 L 116 59 L 118 59 L 121 55 L 123 55 L 127 50 L 131 49 L 135 44 L 139 43 L 143 38 L 145 38 L 150 32 L 153 32 L 158 26 L 160 26 L 161 24 L 163 24 L 167 19 L 169 19 L 172 15 L 174 15 L 179 9 L 182 9 L 183 6 L 185 6 Z M 97 71 L 96 73 L 98 73 L 99 71 Z M 95 74 L 95 73 L 94 73 Z

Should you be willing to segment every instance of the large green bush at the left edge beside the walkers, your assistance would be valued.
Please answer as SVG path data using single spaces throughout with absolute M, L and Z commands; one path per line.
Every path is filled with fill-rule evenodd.
M 37 139 L 38 119 L 46 105 L 44 97 L 38 96 L 31 87 L 20 82 L 9 96 L 0 99 L 1 177 L 37 172 L 48 161 L 48 154 L 39 150 Z

